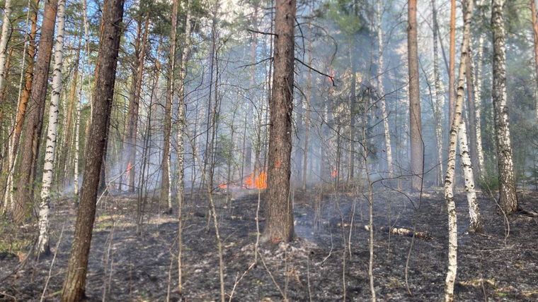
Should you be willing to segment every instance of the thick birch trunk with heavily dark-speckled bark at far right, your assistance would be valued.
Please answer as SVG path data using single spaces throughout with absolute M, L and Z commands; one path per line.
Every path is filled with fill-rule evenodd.
M 515 174 L 510 142 L 510 123 L 506 97 L 506 48 L 503 19 L 504 0 L 493 0 L 493 107 L 497 137 L 497 166 L 499 173 L 499 205 L 510 214 L 517 211 Z

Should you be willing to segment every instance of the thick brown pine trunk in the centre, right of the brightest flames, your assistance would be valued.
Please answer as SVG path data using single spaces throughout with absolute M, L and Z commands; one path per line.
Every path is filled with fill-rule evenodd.
M 289 242 L 294 236 L 290 193 L 296 1 L 277 0 L 273 99 L 270 103 L 268 193 L 263 241 Z

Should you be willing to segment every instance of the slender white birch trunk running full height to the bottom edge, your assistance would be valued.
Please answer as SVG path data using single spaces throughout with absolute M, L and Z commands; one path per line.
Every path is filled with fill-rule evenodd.
M 462 121 L 464 83 L 466 64 L 469 61 L 469 37 L 471 35 L 471 16 L 473 1 L 464 0 L 464 29 L 462 41 L 462 59 L 459 62 L 457 99 L 454 104 L 454 117 L 450 128 L 450 140 L 447 159 L 447 174 L 445 176 L 445 200 L 448 212 L 448 272 L 445 281 L 445 301 L 454 301 L 454 282 L 457 273 L 457 214 L 454 203 L 454 176 L 456 174 L 456 147 L 459 123 Z

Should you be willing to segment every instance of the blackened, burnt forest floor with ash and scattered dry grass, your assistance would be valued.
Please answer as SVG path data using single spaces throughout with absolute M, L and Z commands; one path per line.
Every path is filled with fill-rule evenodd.
M 422 200 L 418 193 L 376 191 L 373 276 L 378 300 L 442 301 L 448 246 L 442 191 L 429 189 Z M 250 269 L 258 194 L 236 192 L 236 200 L 229 206 L 224 195 L 215 198 L 223 243 L 224 291 L 227 295 L 233 292 L 233 301 L 282 301 L 283 295 L 289 301 L 342 301 L 344 295 L 345 301 L 370 299 L 370 234 L 364 228 L 368 203 L 362 192 L 326 191 L 323 198 L 320 196 L 319 189 L 294 193 L 299 238 L 289 245 L 262 247 L 258 265 Z M 170 301 L 218 301 L 219 256 L 214 226 L 206 230 L 207 201 L 200 198 L 195 202 L 188 197 L 180 296 L 175 258 L 177 209 L 173 215 L 160 214 L 156 199 L 150 200 L 142 236 L 136 234 L 135 197 L 108 197 L 98 205 L 86 280 L 88 300 L 166 301 L 169 292 Z M 520 200 L 527 210 L 538 210 L 537 192 L 525 191 Z M 457 193 L 456 201 L 459 248 L 455 300 L 537 301 L 538 218 L 513 215 L 507 223 L 496 211 L 495 200 L 479 194 L 483 234 L 469 234 L 465 195 Z M 0 283 L 0 301 L 40 301 L 42 296 L 43 301 L 59 300 L 76 219 L 72 203 L 72 199 L 62 199 L 52 205 L 51 248 L 55 255 L 37 261 L 29 258 L 16 274 Z M 432 238 L 414 239 L 408 259 L 410 295 L 405 280 L 412 238 L 389 236 L 387 227 L 413 229 L 415 218 L 416 230 L 428 232 Z M 2 222 L 0 227 L 2 278 L 25 257 L 21 252 L 25 247 L 17 244 L 28 244 L 36 232 L 32 224 L 13 227 Z

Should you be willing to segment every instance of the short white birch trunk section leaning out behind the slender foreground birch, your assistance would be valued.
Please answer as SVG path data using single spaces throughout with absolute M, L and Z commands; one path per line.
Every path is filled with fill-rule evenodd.
M 471 52 L 469 52 L 469 55 Z M 473 166 L 469 157 L 469 144 L 467 143 L 467 129 L 465 121 L 459 122 L 459 156 L 462 157 L 462 170 L 465 179 L 465 191 L 467 191 L 467 202 L 469 203 L 469 231 L 475 233 L 482 232 L 482 219 L 480 215 L 479 201 L 476 199 L 474 190 Z

